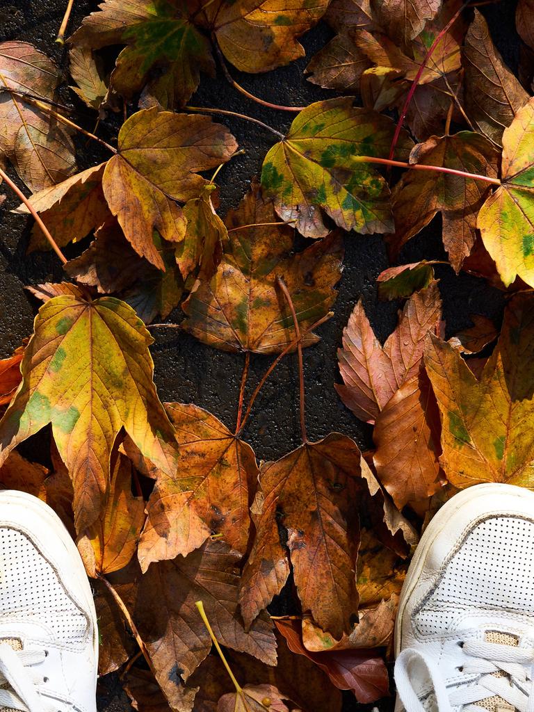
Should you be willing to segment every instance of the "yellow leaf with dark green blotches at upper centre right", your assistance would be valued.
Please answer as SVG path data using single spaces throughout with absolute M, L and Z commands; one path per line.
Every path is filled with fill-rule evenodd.
M 353 107 L 350 97 L 311 104 L 266 155 L 263 189 L 281 218 L 307 237 L 328 234 L 321 210 L 345 230 L 392 232 L 387 182 L 355 159 L 387 155 L 393 132 L 389 117 Z M 406 157 L 409 147 L 403 134 L 399 154 Z

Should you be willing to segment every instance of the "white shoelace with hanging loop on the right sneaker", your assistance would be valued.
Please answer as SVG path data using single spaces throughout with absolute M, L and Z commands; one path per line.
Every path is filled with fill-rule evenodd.
M 410 669 L 423 666 L 436 696 L 439 712 L 451 712 L 460 706 L 463 712 L 484 712 L 477 702 L 498 695 L 519 712 L 534 712 L 533 664 L 534 648 L 519 648 L 481 641 L 466 641 L 464 653 L 465 674 L 479 675 L 466 684 L 447 688 L 439 666 L 421 650 L 403 650 L 395 663 L 395 683 L 406 712 L 425 712 L 410 681 Z M 496 677 L 492 673 L 503 671 L 509 677 Z

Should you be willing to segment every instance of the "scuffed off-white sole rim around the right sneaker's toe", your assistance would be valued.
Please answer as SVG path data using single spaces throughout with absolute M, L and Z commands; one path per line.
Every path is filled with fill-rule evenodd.
M 424 530 L 421 542 L 415 550 L 414 557 L 412 558 L 406 578 L 404 579 L 404 585 L 402 586 L 399 608 L 397 609 L 397 620 L 395 622 L 395 657 L 397 657 L 401 651 L 402 623 L 407 602 L 417 587 L 426 562 L 426 557 L 434 545 L 436 538 L 447 528 L 452 515 L 468 504 L 468 502 L 479 497 L 503 496 L 505 493 L 514 497 L 532 498 L 534 508 L 534 492 L 529 489 L 504 483 L 489 482 L 473 485 L 454 495 L 454 497 L 451 497 L 451 499 L 441 507 L 434 518 L 431 519 L 429 525 Z

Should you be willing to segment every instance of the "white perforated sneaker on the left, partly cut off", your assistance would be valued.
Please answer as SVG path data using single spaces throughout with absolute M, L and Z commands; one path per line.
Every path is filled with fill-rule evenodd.
M 73 540 L 36 497 L 0 492 L 0 712 L 96 712 L 97 662 Z

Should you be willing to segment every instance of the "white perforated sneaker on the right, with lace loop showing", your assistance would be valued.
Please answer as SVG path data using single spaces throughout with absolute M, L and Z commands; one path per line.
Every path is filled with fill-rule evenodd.
M 409 567 L 395 628 L 397 711 L 534 712 L 534 493 L 454 496 Z

